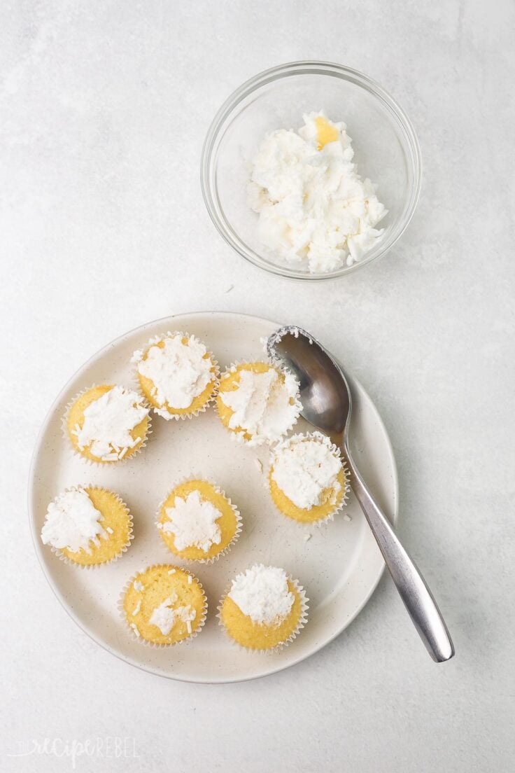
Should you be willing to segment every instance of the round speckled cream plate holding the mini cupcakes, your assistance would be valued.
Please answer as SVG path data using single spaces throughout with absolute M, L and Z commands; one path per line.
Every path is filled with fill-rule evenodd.
M 282 323 L 284 324 L 284 322 Z M 63 440 L 66 404 L 93 383 L 130 384 L 130 356 L 151 336 L 168 330 L 194 333 L 205 341 L 222 368 L 238 359 L 263 359 L 263 342 L 279 323 L 239 314 L 204 312 L 159 319 L 110 343 L 66 384 L 43 424 L 29 480 L 29 518 L 39 561 L 56 597 L 98 644 L 133 666 L 188 682 L 238 682 L 265 676 L 313 655 L 354 619 L 370 598 L 384 569 L 381 553 L 351 495 L 346 513 L 321 527 L 307 528 L 274 509 L 266 487 L 266 449 L 235 443 L 212 408 L 194 419 L 153 418 L 147 448 L 120 466 L 98 468 L 76 458 Z M 378 502 L 397 517 L 395 460 L 385 427 L 370 397 L 351 379 L 355 459 Z M 296 431 L 309 425 L 301 420 Z M 195 566 L 208 596 L 208 620 L 201 634 L 182 645 L 151 649 L 133 641 L 120 620 L 117 601 L 131 574 L 150 564 L 177 563 L 154 525 L 159 502 L 185 475 L 216 482 L 239 507 L 239 541 L 215 564 Z M 46 507 L 69 485 L 103 485 L 120 494 L 134 516 L 135 539 L 116 563 L 92 570 L 63 563 L 39 534 Z M 308 535 L 309 539 L 308 539 Z M 306 628 L 282 652 L 239 649 L 218 625 L 216 609 L 235 574 L 263 562 L 283 567 L 299 579 L 310 598 Z

